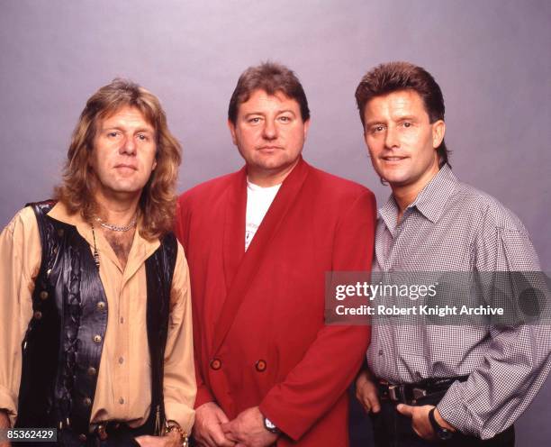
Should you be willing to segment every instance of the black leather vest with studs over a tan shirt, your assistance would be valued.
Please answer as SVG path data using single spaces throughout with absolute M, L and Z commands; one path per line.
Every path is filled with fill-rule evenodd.
M 16 426 L 88 433 L 108 318 L 104 287 L 77 228 L 46 215 L 55 203 L 29 205 L 38 221 L 42 260 L 23 340 Z M 176 253 L 176 237 L 169 233 L 145 262 L 151 411 L 143 433 L 149 434 L 156 417 L 164 418 L 163 364 Z

